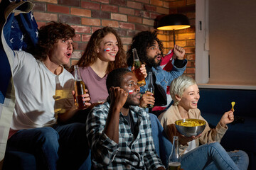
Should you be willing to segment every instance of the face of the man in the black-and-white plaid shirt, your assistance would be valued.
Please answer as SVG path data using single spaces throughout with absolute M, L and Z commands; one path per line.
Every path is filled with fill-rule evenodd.
M 129 108 L 129 106 L 139 106 L 139 86 L 137 86 L 137 78 L 134 76 L 132 72 L 128 72 L 123 75 L 123 79 L 121 82 L 121 88 L 124 91 L 133 91 L 133 93 L 129 93 L 126 103 L 124 104 L 124 108 Z

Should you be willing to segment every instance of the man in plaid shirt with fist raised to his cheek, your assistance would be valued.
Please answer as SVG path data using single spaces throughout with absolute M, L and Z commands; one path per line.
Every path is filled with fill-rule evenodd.
M 107 102 L 87 117 L 87 137 L 95 169 L 165 169 L 156 155 L 149 115 L 139 108 L 137 78 L 128 69 L 107 77 Z

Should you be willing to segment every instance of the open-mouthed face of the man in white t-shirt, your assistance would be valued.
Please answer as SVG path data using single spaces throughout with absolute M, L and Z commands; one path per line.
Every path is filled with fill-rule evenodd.
M 73 40 L 58 40 L 49 52 L 49 60 L 56 65 L 68 64 L 73 52 Z

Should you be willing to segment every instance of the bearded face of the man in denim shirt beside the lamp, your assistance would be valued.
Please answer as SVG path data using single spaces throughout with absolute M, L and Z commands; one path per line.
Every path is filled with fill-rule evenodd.
M 146 56 L 151 67 L 158 67 L 161 63 L 161 51 L 159 50 L 159 43 L 154 40 L 154 44 L 146 49 Z

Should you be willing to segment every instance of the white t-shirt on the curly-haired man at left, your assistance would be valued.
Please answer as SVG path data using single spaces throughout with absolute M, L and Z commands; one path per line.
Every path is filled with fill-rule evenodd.
M 31 54 L 14 52 L 11 68 L 16 105 L 11 129 L 41 128 L 55 124 L 57 113 L 65 113 L 74 104 L 73 75 L 64 68 L 61 74 L 55 75 Z

